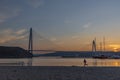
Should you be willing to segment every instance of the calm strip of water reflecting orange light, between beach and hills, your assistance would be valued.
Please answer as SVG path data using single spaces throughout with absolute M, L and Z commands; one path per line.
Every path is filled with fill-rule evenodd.
M 120 59 L 85 58 L 88 66 L 120 67 Z M 84 58 L 34 57 L 32 59 L 0 59 L 0 66 L 84 66 Z

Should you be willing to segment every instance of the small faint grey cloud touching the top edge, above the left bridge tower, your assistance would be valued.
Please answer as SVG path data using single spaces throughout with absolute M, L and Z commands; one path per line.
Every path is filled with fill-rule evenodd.
M 27 0 L 27 2 L 33 8 L 38 8 L 44 5 L 44 0 Z

